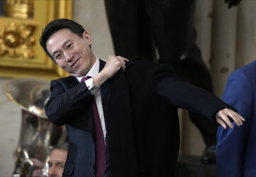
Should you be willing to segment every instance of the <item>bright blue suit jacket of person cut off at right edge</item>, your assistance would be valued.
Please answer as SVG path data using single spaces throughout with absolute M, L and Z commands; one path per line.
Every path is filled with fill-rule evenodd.
M 256 176 L 256 62 L 233 72 L 228 78 L 223 101 L 245 118 L 244 125 L 218 128 L 217 167 L 219 177 Z

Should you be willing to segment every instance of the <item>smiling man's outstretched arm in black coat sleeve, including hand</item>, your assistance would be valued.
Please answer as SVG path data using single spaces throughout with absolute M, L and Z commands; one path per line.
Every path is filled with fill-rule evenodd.
M 184 108 L 216 120 L 224 128 L 233 127 L 230 120 L 240 126 L 244 119 L 233 110 L 233 107 L 221 101 L 208 91 L 186 84 L 168 69 L 156 73 L 156 92 L 178 108 Z

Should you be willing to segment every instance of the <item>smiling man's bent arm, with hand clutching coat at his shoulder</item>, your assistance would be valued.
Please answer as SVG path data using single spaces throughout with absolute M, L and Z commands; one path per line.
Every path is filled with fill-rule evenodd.
M 110 56 L 104 69 L 93 77 L 96 86 L 101 86 L 107 79 L 114 76 L 119 69 L 125 69 L 123 57 Z M 58 79 L 50 83 L 50 99 L 46 103 L 46 115 L 55 125 L 64 125 L 74 117 L 74 113 L 90 105 L 93 96 L 84 83 L 75 84 L 68 89 L 68 81 Z

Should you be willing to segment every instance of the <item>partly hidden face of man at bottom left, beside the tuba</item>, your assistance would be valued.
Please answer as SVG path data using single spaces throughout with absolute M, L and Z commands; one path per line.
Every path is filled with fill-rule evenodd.
M 67 152 L 64 150 L 54 149 L 53 152 L 50 153 L 48 177 L 62 176 L 66 158 Z

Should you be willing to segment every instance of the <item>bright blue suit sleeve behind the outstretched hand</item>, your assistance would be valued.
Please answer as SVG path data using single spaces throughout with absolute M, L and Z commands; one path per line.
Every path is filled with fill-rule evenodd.
M 216 157 L 219 177 L 243 176 L 246 139 L 252 119 L 252 98 L 253 90 L 250 80 L 241 72 L 233 72 L 225 87 L 223 101 L 233 105 L 245 118 L 245 122 L 240 127 L 233 122 L 234 128 L 228 130 L 218 127 Z

